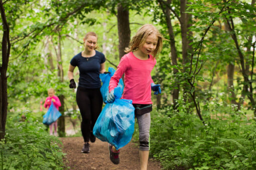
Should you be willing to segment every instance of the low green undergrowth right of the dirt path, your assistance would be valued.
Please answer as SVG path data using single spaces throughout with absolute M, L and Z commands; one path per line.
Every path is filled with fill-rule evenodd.
M 256 168 L 255 120 L 247 119 L 235 105 L 223 105 L 222 99 L 206 102 L 204 124 L 186 111 L 189 102 L 182 97 L 178 110 L 165 107 L 152 112 L 151 154 L 165 169 Z

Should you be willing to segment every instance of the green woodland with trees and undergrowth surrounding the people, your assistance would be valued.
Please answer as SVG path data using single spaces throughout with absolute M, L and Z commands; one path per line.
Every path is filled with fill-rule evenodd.
M 65 154 L 41 123 L 40 101 L 49 87 L 56 90 L 59 136 L 65 136 L 65 117 L 80 120 L 67 70 L 85 33 L 98 34 L 106 68 L 116 69 L 145 23 L 169 39 L 152 72 L 162 94 L 153 96 L 151 156 L 165 169 L 256 168 L 255 0 L 0 3 L 2 169 L 63 168 Z

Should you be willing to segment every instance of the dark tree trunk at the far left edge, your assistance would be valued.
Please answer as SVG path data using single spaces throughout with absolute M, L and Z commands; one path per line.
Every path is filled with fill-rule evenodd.
M 7 119 L 7 68 L 10 57 L 11 42 L 10 42 L 10 28 L 6 19 L 5 8 L 3 1 L 0 0 L 0 12 L 3 25 L 3 39 L 2 39 L 2 65 L 0 66 L 0 140 L 5 137 L 6 132 L 6 119 Z

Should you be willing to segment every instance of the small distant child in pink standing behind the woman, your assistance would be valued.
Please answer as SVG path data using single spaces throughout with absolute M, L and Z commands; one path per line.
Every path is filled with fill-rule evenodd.
M 59 106 L 61 106 L 60 99 L 59 99 L 59 97 L 54 95 L 54 93 L 55 93 L 55 91 L 53 88 L 48 89 L 49 96 L 46 97 L 46 99 L 45 99 L 44 107 L 49 109 L 49 107 L 51 106 L 51 104 L 53 102 L 54 106 L 59 110 Z M 57 120 L 49 125 L 50 135 L 53 135 L 53 132 L 52 132 L 53 126 L 54 126 L 54 135 L 57 136 L 57 127 L 58 127 Z

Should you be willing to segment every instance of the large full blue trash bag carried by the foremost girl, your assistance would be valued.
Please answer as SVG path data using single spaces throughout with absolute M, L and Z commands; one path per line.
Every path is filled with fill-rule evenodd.
M 134 133 L 132 100 L 119 99 L 121 87 L 114 88 L 114 102 L 106 103 L 93 127 L 93 134 L 119 149 L 130 142 Z

